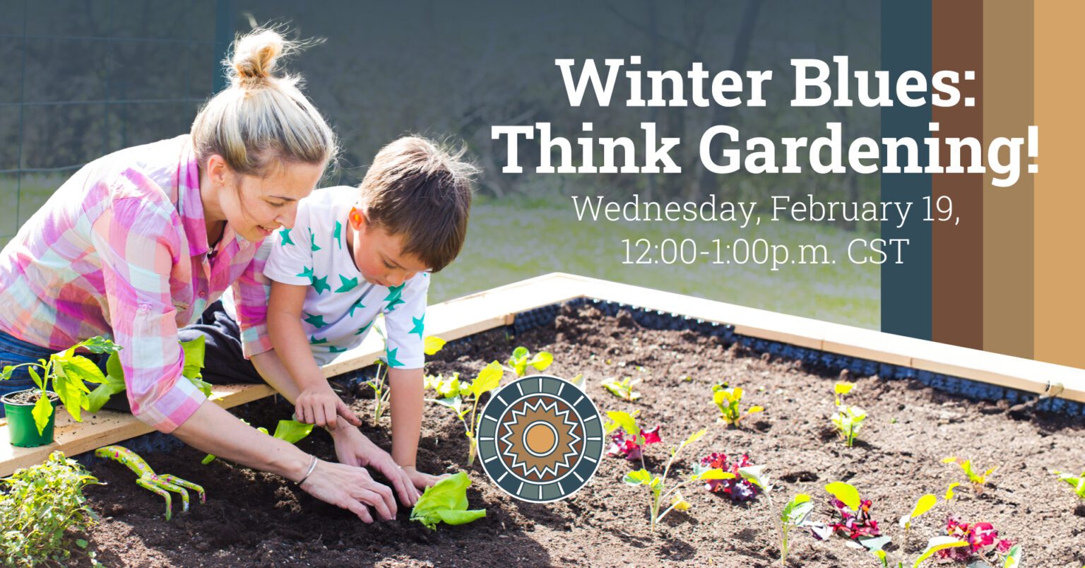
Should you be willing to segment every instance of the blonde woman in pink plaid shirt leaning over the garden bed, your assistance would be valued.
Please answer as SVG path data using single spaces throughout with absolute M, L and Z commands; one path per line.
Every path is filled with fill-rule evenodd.
M 341 464 L 258 432 L 181 378 L 178 329 L 233 287 L 245 354 L 288 399 L 296 395 L 265 330 L 260 241 L 294 223 L 333 159 L 331 128 L 272 74 L 296 48 L 272 30 L 233 47 L 231 86 L 201 109 L 189 135 L 129 148 L 84 166 L 0 253 L 0 364 L 47 357 L 80 340 L 122 345 L 132 414 L 199 449 L 293 480 L 372 521 L 418 492 L 392 457 L 345 420 L 332 430 Z M 24 370 L 24 368 L 20 370 Z M 0 394 L 26 388 L 25 371 Z

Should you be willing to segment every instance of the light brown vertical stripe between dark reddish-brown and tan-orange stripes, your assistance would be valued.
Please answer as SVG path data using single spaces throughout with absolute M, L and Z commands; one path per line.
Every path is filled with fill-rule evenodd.
M 1021 136 L 1034 124 L 1032 1 L 988 2 L 983 9 L 985 146 Z M 983 176 L 983 349 L 1033 357 L 1033 176 L 991 185 Z

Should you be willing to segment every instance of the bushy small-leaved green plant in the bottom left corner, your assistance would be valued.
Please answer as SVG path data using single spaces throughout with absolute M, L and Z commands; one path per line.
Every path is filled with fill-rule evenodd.
M 76 533 L 98 520 L 82 489 L 101 484 L 74 459 L 53 452 L 44 463 L 0 479 L 0 557 L 5 565 L 64 563 L 88 543 Z M 97 565 L 93 552 L 85 554 Z

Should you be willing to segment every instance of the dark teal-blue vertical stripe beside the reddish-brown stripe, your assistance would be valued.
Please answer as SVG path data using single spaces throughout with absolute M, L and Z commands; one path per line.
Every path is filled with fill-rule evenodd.
M 881 2 L 882 68 L 893 80 L 901 73 L 915 70 L 931 74 L 931 0 L 926 2 Z M 882 109 L 883 137 L 910 137 L 923 154 L 923 138 L 930 135 L 930 105 L 909 108 L 895 104 Z M 902 152 L 902 160 L 903 160 Z M 884 164 L 884 157 L 882 159 Z M 921 159 L 920 165 L 927 165 Z M 904 264 L 892 261 L 881 266 L 882 331 L 919 339 L 931 339 L 931 227 L 923 222 L 926 202 L 931 194 L 930 174 L 881 175 L 882 201 L 914 203 L 908 222 L 901 228 L 883 223 L 883 239 L 908 239 Z M 886 247 L 886 250 L 895 248 Z

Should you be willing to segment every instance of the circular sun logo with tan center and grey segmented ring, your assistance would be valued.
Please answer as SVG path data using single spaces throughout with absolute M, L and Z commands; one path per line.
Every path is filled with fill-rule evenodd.
M 536 503 L 558 501 L 595 475 L 602 430 L 598 408 L 580 389 L 534 375 L 507 384 L 486 403 L 478 456 L 506 493 Z

